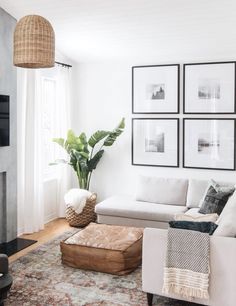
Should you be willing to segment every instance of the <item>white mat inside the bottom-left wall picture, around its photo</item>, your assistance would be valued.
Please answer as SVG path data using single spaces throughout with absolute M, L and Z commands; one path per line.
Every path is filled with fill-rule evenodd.
M 145 152 L 145 138 L 152 138 L 155 131 L 165 135 L 165 152 Z M 134 120 L 133 163 L 159 166 L 178 165 L 178 121 L 177 120 Z

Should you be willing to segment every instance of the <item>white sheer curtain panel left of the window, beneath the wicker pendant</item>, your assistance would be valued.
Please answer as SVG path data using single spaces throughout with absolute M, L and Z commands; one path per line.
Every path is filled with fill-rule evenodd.
M 18 228 L 44 227 L 41 84 L 38 70 L 18 70 Z

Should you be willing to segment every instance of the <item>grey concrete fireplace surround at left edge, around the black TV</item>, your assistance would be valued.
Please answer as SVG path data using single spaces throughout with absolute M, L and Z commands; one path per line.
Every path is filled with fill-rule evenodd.
M 10 96 L 10 146 L 0 147 L 0 243 L 17 236 L 16 68 L 12 59 L 15 25 L 16 20 L 0 8 L 0 94 Z

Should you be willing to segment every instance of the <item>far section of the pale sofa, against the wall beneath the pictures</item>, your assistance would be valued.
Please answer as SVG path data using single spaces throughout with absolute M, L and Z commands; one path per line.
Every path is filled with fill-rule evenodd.
M 208 181 L 141 177 L 136 196 L 113 196 L 95 207 L 99 223 L 168 228 L 176 214 L 196 214 Z

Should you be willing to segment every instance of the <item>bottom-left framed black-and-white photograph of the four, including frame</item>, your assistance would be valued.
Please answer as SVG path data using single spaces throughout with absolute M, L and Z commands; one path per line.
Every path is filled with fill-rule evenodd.
M 179 166 L 179 119 L 132 119 L 132 165 Z

